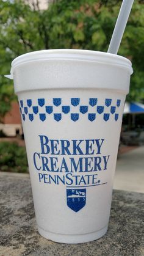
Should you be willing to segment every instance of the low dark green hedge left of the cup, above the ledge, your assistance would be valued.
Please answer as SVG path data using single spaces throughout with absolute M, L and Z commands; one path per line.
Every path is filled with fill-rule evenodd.
M 16 142 L 0 142 L 0 170 L 2 172 L 29 172 L 26 148 Z

